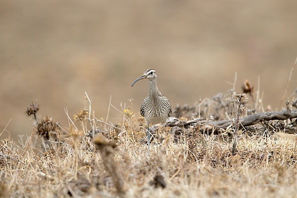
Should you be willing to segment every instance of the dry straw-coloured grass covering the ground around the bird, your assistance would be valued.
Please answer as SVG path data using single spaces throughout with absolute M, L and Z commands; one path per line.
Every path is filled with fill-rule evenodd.
M 199 127 L 190 127 L 177 136 L 166 127 L 148 156 L 139 113 L 123 108 L 122 122 L 112 126 L 86 109 L 73 121 L 68 116 L 68 129 L 56 127 L 55 136 L 42 145 L 29 142 L 20 149 L 9 139 L 1 141 L 0 197 L 296 196 L 292 138 L 274 139 L 268 129 L 261 135 L 239 130 L 232 155 L 228 135 L 203 135 Z M 99 136 L 90 137 L 92 127 Z

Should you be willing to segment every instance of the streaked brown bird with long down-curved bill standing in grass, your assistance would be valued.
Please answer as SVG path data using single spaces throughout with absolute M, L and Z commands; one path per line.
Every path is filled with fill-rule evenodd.
M 147 69 L 144 75 L 137 78 L 133 85 L 142 79 L 148 79 L 149 81 L 149 92 L 148 96 L 143 100 L 140 106 L 140 114 L 145 117 L 147 124 L 147 136 L 148 136 L 148 155 L 149 155 L 149 142 L 150 132 L 149 124 L 161 123 L 165 126 L 167 118 L 171 116 L 172 109 L 169 99 L 162 96 L 157 88 L 157 75 L 154 69 Z

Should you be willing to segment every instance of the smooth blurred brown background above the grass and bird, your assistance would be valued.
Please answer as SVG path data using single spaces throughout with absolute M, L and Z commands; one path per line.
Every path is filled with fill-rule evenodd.
M 139 111 L 154 68 L 172 106 L 193 104 L 250 79 L 273 109 L 297 56 L 296 0 L 1 0 L 0 132 L 31 134 L 25 116 L 38 99 L 41 117 L 66 125 L 85 105 L 98 117 L 133 98 Z M 289 90 L 296 86 L 294 71 Z M 110 120 L 121 115 L 110 110 Z M 7 133 L 0 137 L 7 136 Z

